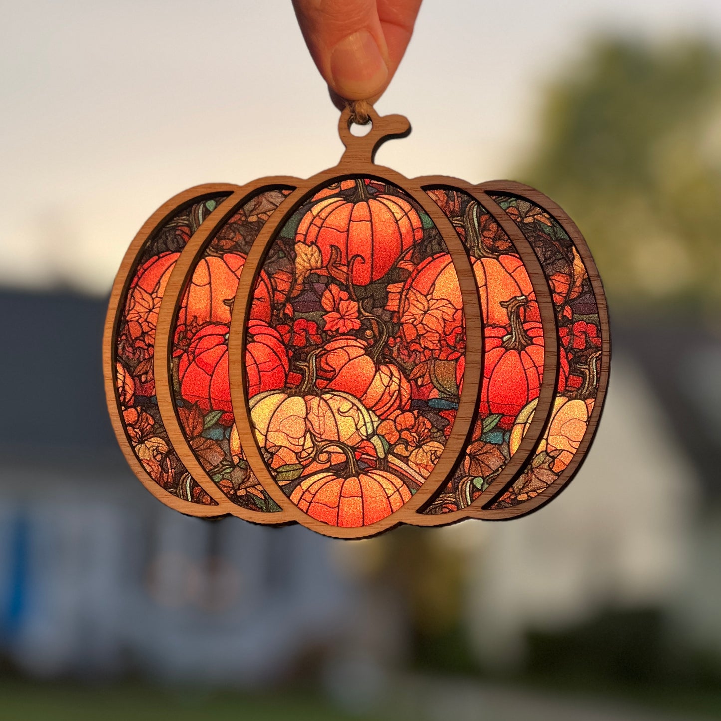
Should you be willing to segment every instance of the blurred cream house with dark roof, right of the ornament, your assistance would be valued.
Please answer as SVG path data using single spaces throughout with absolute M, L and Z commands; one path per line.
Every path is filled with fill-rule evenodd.
M 721 658 L 721 340 L 700 327 L 614 324 L 601 425 L 570 487 L 513 523 L 448 529 L 468 553 L 467 617 L 492 668 L 528 631 L 660 611 L 677 647 Z M 483 609 L 482 613 L 478 609 Z

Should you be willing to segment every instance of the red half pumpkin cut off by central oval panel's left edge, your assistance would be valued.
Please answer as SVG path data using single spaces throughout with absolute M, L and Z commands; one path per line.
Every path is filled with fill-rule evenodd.
M 288 350 L 280 333 L 262 320 L 248 322 L 248 342 L 245 348 L 248 396 L 275 391 L 288 378 Z

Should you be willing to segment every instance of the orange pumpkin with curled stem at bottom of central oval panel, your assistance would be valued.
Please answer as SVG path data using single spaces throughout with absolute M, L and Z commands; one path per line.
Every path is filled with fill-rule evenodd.
M 340 528 L 362 528 L 382 521 L 410 500 L 410 490 L 388 471 L 361 472 L 345 443 L 326 443 L 345 453 L 345 474 L 322 471 L 301 481 L 291 501 L 316 521 Z

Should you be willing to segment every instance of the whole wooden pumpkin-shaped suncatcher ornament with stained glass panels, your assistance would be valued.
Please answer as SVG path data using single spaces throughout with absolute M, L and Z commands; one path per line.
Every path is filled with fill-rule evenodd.
M 191 188 L 138 233 L 104 340 L 120 446 L 195 516 L 361 538 L 530 513 L 608 383 L 583 236 L 528 186 L 375 164 L 409 123 L 350 118 L 336 167 Z

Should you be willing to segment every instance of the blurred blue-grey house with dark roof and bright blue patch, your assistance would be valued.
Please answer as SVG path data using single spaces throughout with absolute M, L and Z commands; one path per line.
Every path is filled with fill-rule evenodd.
M 1 656 L 253 685 L 358 636 L 332 541 L 186 518 L 138 483 L 105 408 L 105 302 L 5 291 L 0 318 Z

